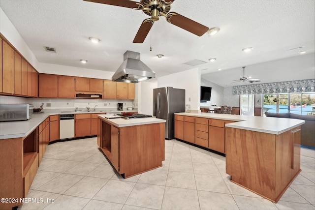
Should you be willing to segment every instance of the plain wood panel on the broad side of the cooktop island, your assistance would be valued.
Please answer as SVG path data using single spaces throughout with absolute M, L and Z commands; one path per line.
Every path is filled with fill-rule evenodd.
M 162 166 L 165 123 L 120 127 L 120 171 L 125 178 Z

